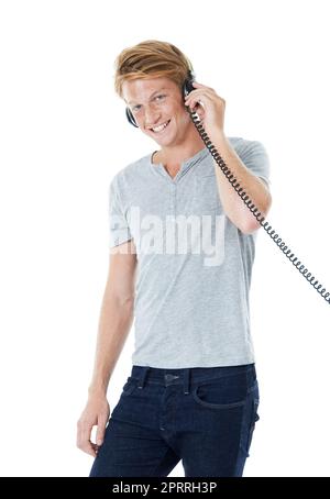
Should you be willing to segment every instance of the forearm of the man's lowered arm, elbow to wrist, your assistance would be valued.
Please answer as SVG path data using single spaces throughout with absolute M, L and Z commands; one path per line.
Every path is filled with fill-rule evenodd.
M 121 303 L 105 295 L 99 320 L 99 331 L 89 395 L 106 395 L 108 384 L 120 356 L 134 315 L 133 299 Z

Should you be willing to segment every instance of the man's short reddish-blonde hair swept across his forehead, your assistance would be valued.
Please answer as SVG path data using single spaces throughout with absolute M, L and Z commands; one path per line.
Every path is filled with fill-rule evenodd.
M 114 62 L 114 90 L 123 98 L 123 81 L 138 78 L 167 77 L 179 88 L 193 65 L 175 45 L 158 40 L 145 40 L 124 48 Z

